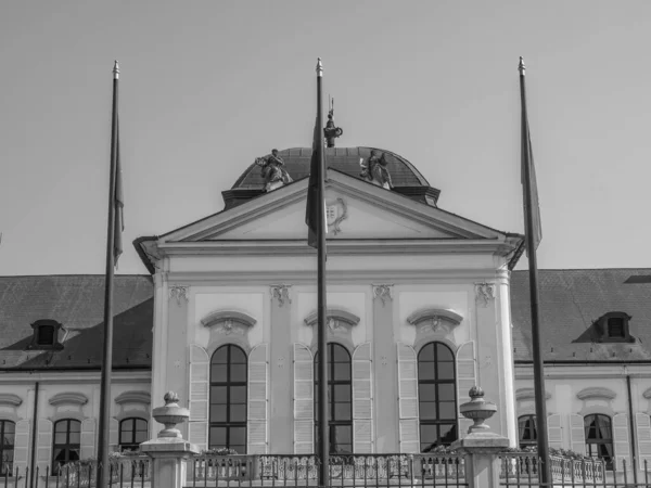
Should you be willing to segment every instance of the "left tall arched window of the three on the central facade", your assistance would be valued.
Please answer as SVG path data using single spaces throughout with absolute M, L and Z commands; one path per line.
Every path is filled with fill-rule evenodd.
M 221 346 L 210 361 L 209 448 L 246 453 L 246 354 Z

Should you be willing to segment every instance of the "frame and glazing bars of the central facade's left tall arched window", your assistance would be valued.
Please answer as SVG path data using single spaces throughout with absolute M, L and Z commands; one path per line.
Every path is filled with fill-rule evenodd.
M 227 350 L 227 361 L 226 361 L 226 381 L 224 382 L 217 382 L 214 380 L 213 377 L 213 365 L 214 364 L 224 364 L 224 363 L 217 363 L 215 362 L 215 358 L 217 357 L 217 354 L 225 349 Z M 242 363 L 233 363 L 231 358 L 232 358 L 232 351 L 233 350 L 238 350 L 242 357 L 244 358 L 244 381 L 232 381 L 232 364 L 242 364 Z M 213 449 L 213 448 L 227 448 L 227 449 L 233 449 L 232 446 L 242 446 L 243 452 L 240 452 L 240 450 L 237 450 L 238 454 L 246 454 L 246 438 L 247 438 L 247 409 L 248 409 L 248 356 L 246 355 L 246 351 L 244 351 L 243 348 L 241 348 L 240 346 L 235 345 L 235 344 L 225 344 L 220 347 L 218 347 L 215 352 L 213 352 L 213 356 L 210 357 L 210 363 L 209 363 L 209 388 L 210 388 L 210 393 L 209 393 L 209 400 L 208 400 L 208 449 Z M 214 387 L 225 387 L 226 388 L 226 393 L 227 393 L 227 397 L 226 397 L 226 402 L 225 403 L 215 403 L 214 399 L 213 399 L 213 388 Z M 231 421 L 231 409 L 233 403 L 231 402 L 231 388 L 232 387 L 244 387 L 244 402 L 243 408 L 244 408 L 244 420 L 243 421 Z M 212 407 L 214 404 L 226 404 L 226 421 L 215 421 L 213 420 L 213 415 L 212 415 Z M 240 403 L 235 403 L 235 404 L 240 404 Z M 219 446 L 216 442 L 213 441 L 212 437 L 213 437 L 213 428 L 226 428 L 226 442 L 225 446 Z M 243 444 L 237 444 L 233 445 L 231 442 L 231 432 L 233 428 L 244 428 L 244 440 Z

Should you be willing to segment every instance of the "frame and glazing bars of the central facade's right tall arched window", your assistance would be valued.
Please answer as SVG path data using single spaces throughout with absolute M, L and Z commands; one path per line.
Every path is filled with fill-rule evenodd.
M 422 356 L 425 354 L 429 347 L 433 347 L 433 361 L 425 361 L 422 359 Z M 443 347 L 447 349 L 449 356 L 451 357 L 451 361 L 439 361 L 438 360 L 438 347 Z M 452 377 L 451 378 L 439 378 L 439 363 L 441 362 L 449 362 L 452 365 Z M 422 380 L 421 378 L 421 368 L 424 363 L 434 364 L 434 380 Z M 441 341 L 431 341 L 424 344 L 418 351 L 417 355 L 417 381 L 418 381 L 418 427 L 419 427 L 419 450 L 420 452 L 431 452 L 438 446 L 449 446 L 451 442 L 459 438 L 459 419 L 458 419 L 458 409 L 459 409 L 459 399 L 457 398 L 457 358 L 455 356 L 455 351 L 451 347 Z M 436 410 L 436 419 L 423 419 L 422 414 L 422 406 L 424 403 L 422 399 L 422 385 L 434 385 L 436 396 L 435 400 L 427 401 L 426 403 L 434 403 Z M 452 387 L 452 399 L 454 399 L 454 419 L 439 419 L 438 412 L 441 409 L 441 402 L 449 402 L 450 400 L 441 400 L 438 397 L 438 385 L 451 385 Z M 436 440 L 434 442 L 430 442 L 426 447 L 423 447 L 425 442 L 423 442 L 423 427 L 426 426 L 435 426 L 436 428 Z M 450 441 L 441 441 L 442 438 L 442 427 L 443 426 L 451 426 L 451 431 L 449 433 L 454 434 L 455 439 Z

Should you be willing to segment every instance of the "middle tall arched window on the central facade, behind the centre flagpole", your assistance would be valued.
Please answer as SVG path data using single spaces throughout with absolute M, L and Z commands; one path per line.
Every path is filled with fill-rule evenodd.
M 319 446 L 319 354 L 315 355 L 315 452 Z M 328 345 L 328 432 L 331 454 L 353 453 L 353 381 L 348 350 Z

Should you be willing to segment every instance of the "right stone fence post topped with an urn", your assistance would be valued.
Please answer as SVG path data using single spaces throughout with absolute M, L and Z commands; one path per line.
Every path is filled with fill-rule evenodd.
M 452 442 L 452 449 L 465 457 L 465 481 L 469 488 L 499 488 L 499 453 L 509 447 L 509 439 L 490 432 L 484 424 L 497 411 L 495 403 L 484 400 L 478 386 L 470 389 L 471 401 L 460 407 L 461 414 L 474 421 L 468 435 Z

